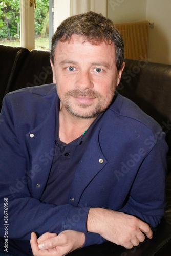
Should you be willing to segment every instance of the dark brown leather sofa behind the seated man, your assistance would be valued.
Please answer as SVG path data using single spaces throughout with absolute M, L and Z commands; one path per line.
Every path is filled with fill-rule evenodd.
M 6 93 L 52 82 L 50 52 L 28 51 L 21 47 L 0 45 L 0 104 Z M 170 256 L 171 255 L 171 65 L 146 61 L 126 60 L 126 66 L 117 88 L 123 96 L 133 100 L 152 116 L 166 133 L 168 175 L 166 179 L 166 213 L 153 239 L 132 249 L 106 242 L 76 250 L 77 256 Z M 156 159 L 157 161 L 157 159 Z

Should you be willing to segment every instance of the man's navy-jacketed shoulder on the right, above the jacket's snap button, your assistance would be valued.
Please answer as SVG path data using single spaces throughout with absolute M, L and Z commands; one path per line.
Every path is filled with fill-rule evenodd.
M 115 95 L 98 127 L 98 142 L 104 155 L 109 159 L 119 155 L 126 157 L 129 152 L 142 149 L 148 154 L 159 140 L 165 148 L 165 134 L 161 126 L 131 100 Z

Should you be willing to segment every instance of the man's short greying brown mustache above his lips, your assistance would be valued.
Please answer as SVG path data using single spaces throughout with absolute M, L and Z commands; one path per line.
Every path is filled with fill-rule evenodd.
M 79 89 L 74 89 L 71 91 L 68 91 L 65 96 L 72 96 L 72 97 L 90 97 L 90 98 L 101 98 L 101 94 L 98 92 L 87 90 L 87 91 L 81 91 Z

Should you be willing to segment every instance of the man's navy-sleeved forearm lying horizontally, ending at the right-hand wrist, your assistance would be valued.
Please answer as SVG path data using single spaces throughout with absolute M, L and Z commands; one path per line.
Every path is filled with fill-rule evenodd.
M 71 229 L 86 232 L 86 219 L 89 208 L 82 208 L 85 212 L 74 222 L 73 216 L 78 216 L 79 207 L 72 205 L 60 205 L 41 203 L 33 198 L 18 198 L 8 203 L 8 217 L 10 229 L 9 238 L 29 240 L 31 232 L 38 232 L 40 235 L 49 231 L 60 233 L 63 230 Z M 3 211 L 0 212 L 1 224 L 3 224 Z M 16 227 L 19 227 L 16 229 Z M 3 230 L 0 232 L 3 236 Z

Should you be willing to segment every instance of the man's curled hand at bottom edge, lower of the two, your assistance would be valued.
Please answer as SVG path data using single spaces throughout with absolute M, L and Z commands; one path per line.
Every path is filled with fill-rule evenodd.
M 74 230 L 62 231 L 58 236 L 55 233 L 45 233 L 38 239 L 33 232 L 30 240 L 34 256 L 64 256 L 80 248 L 84 242 L 84 233 Z

